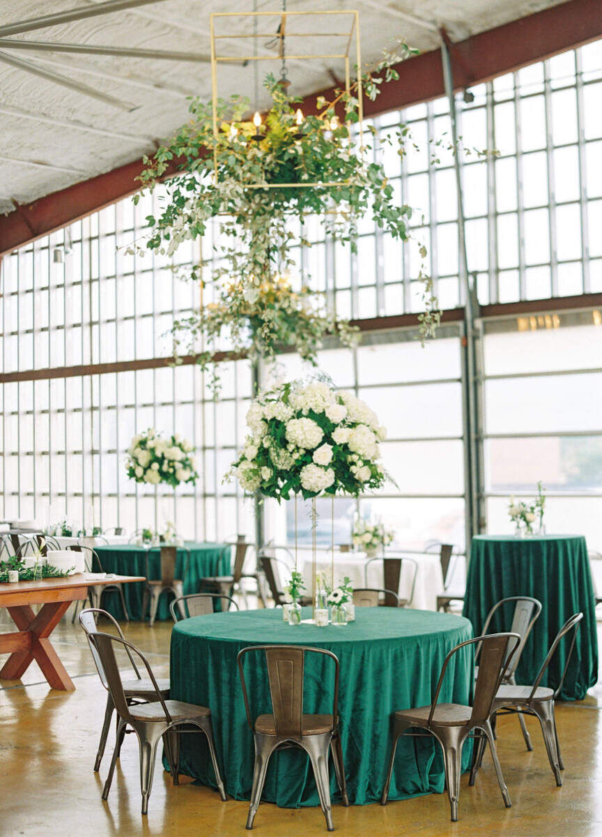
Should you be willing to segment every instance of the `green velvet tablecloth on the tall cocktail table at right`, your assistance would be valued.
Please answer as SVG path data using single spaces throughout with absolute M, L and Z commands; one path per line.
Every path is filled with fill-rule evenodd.
M 584 619 L 560 695 L 565 701 L 581 700 L 598 680 L 594 587 L 585 538 L 474 537 L 463 614 L 471 620 L 475 635 L 481 632 L 496 602 L 521 595 L 538 598 L 543 608 L 518 664 L 517 683 L 533 683 L 559 629 L 570 616 L 582 611 Z M 490 630 L 509 630 L 512 609 L 508 608 L 499 618 L 496 614 Z M 569 644 L 570 640 L 561 644 L 542 686 L 558 686 Z

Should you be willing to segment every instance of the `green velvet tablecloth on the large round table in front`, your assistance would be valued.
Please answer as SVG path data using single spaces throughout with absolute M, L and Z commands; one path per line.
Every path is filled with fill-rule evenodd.
M 349 799 L 355 804 L 380 799 L 391 746 L 395 710 L 431 702 L 446 654 L 472 628 L 467 619 L 431 611 L 356 608 L 355 622 L 316 628 L 284 623 L 282 610 L 247 610 L 186 619 L 171 634 L 171 698 L 209 706 L 217 754 L 227 793 L 248 799 L 253 781 L 253 733 L 247 726 L 237 654 L 253 644 L 313 645 L 339 658 L 339 718 Z M 311 610 L 304 608 L 304 618 Z M 250 658 L 250 659 L 249 659 Z M 459 651 L 448 668 L 441 701 L 467 703 L 472 684 L 472 645 Z M 265 658 L 248 655 L 247 690 L 253 716 L 271 711 Z M 324 655 L 306 655 L 305 712 L 331 712 L 334 665 Z M 465 747 L 466 769 L 471 755 Z M 441 793 L 441 748 L 431 737 L 401 739 L 395 757 L 390 798 Z M 181 738 L 181 770 L 215 787 L 202 736 Z M 338 797 L 330 767 L 331 791 Z M 318 805 L 308 757 L 297 748 L 273 754 L 263 799 L 283 807 Z

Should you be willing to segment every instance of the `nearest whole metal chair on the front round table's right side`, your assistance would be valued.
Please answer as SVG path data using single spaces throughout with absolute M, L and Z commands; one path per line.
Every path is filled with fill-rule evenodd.
M 493 765 L 497 782 L 502 791 L 507 808 L 512 806 L 508 788 L 504 782 L 502 768 L 497 759 L 497 751 L 490 722 L 493 699 L 502 681 L 505 667 L 511 662 L 513 653 L 520 643 L 518 634 L 490 634 L 467 639 L 452 649 L 446 656 L 441 668 L 441 675 L 436 685 L 431 706 L 405 709 L 394 713 L 393 747 L 391 749 L 389 770 L 380 804 L 387 804 L 390 779 L 395 762 L 395 749 L 401 735 L 408 730 L 425 729 L 428 732 L 410 732 L 412 736 L 432 735 L 441 744 L 445 766 L 447 796 L 450 801 L 451 822 L 457 822 L 458 798 L 460 796 L 460 775 L 462 773 L 462 746 L 468 737 L 475 737 L 475 731 L 484 732 L 492 752 Z M 459 703 L 437 703 L 443 678 L 451 657 L 461 648 L 482 643 L 481 665 L 474 688 L 472 706 Z M 483 739 L 484 741 L 484 739 Z

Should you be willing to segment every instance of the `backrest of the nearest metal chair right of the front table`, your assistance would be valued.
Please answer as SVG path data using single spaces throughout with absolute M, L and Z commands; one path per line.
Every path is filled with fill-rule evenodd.
M 429 726 L 431 725 L 432 717 L 436 710 L 439 692 L 441 691 L 443 678 L 445 677 L 447 665 L 451 657 L 457 654 L 461 648 L 479 643 L 482 644 L 482 652 L 477 681 L 474 687 L 474 697 L 472 699 L 471 723 L 478 726 L 480 723 L 487 721 L 491 713 L 493 698 L 496 696 L 496 692 L 502 682 L 506 666 L 512 660 L 512 655 L 518 648 L 520 639 L 518 634 L 488 634 L 487 636 L 477 636 L 474 639 L 467 639 L 465 642 L 457 645 L 456 648 L 451 649 L 441 668 L 435 697 L 431 704 L 431 712 L 428 719 Z

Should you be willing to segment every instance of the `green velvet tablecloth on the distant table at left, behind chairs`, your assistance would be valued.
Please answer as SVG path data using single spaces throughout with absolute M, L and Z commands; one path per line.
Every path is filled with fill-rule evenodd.
M 115 544 L 110 547 L 95 547 L 103 572 L 118 575 L 146 575 L 146 554 L 149 553 L 150 578 L 161 578 L 161 550 L 153 547 L 148 550 L 135 544 Z M 188 555 L 186 565 L 186 555 Z M 178 548 L 176 560 L 176 578 L 182 578 L 184 594 L 198 593 L 199 580 L 206 576 L 227 575 L 230 573 L 232 547 L 226 543 L 186 543 Z M 142 596 L 144 583 L 124 584 L 125 603 L 130 619 L 142 619 Z M 169 604 L 171 593 L 161 593 L 157 619 L 171 619 Z M 106 593 L 102 598 L 102 607 L 115 619 L 124 619 L 125 614 L 117 593 Z

